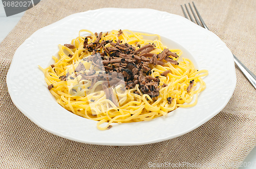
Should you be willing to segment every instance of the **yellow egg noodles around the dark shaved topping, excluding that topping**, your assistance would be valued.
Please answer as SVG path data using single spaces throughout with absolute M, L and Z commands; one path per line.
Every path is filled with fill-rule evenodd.
M 87 35 L 89 33 L 90 35 L 84 37 L 81 36 L 82 33 L 87 33 Z M 165 116 L 168 112 L 178 107 L 191 107 L 197 104 L 198 94 L 206 87 L 201 77 L 206 76 L 208 71 L 197 70 L 193 63 L 186 58 L 179 60 L 178 64 L 162 60 L 162 64 L 149 65 L 150 73 L 147 75 L 151 76 L 152 79 L 159 78 L 160 80 L 158 81 L 157 89 L 159 94 L 155 96 L 142 92 L 138 83 L 134 87 L 127 88 L 126 86 L 125 90 L 127 82 L 122 83 L 124 82 L 123 80 L 120 80 L 122 82 L 115 84 L 114 87 L 110 87 L 110 85 L 108 87 L 108 83 L 104 80 L 93 81 L 91 78 L 84 77 L 82 73 L 77 74 L 80 71 L 77 69 L 81 66 L 86 75 L 89 73 L 104 74 L 104 67 L 102 69 L 102 67 L 95 66 L 92 63 L 93 61 L 86 60 L 86 58 L 95 54 L 95 50 L 88 50 L 84 46 L 90 46 L 96 41 L 98 43 L 94 43 L 94 45 L 113 40 L 116 44 L 129 44 L 135 50 L 147 44 L 153 44 L 154 49 L 150 53 L 155 54 L 154 56 L 167 48 L 161 43 L 159 35 L 137 33 L 129 30 L 113 30 L 100 35 L 101 38 L 98 38 L 97 33 L 94 34 L 89 30 L 80 30 L 79 36 L 73 39 L 70 44 L 59 45 L 59 57 L 52 57 L 55 61 L 53 65 L 45 69 L 39 66 L 45 74 L 49 91 L 62 107 L 81 117 L 98 121 L 97 128 L 105 130 L 112 127 L 111 123 L 149 121 Z M 143 36 L 157 38 L 149 40 L 150 38 L 144 39 Z M 101 63 L 110 62 L 107 61 L 110 58 L 110 53 L 104 52 L 110 46 L 111 43 L 105 43 L 104 46 L 101 45 L 101 48 L 96 49 L 96 52 L 103 53 L 107 58 L 105 61 L 103 59 Z M 176 53 L 179 57 L 182 55 L 180 49 L 168 50 Z M 151 59 L 152 55 L 148 55 L 148 57 L 145 55 L 145 58 Z M 175 62 L 178 59 L 172 56 L 170 58 Z M 148 61 L 148 59 L 145 60 Z M 143 62 L 141 61 L 141 63 Z M 97 64 L 99 64 L 99 61 L 97 61 Z M 108 65 L 110 68 L 115 67 L 114 62 Z M 93 77 L 93 75 L 89 77 Z M 103 88 L 103 84 L 106 84 L 108 89 Z M 113 93 L 114 96 L 112 98 L 115 98 L 114 100 L 116 101 L 107 98 L 106 95 L 108 94 L 106 92 Z M 108 97 L 111 97 L 111 95 Z M 195 101 L 191 103 L 194 97 L 196 97 Z M 107 122 L 106 125 L 103 124 L 105 122 Z

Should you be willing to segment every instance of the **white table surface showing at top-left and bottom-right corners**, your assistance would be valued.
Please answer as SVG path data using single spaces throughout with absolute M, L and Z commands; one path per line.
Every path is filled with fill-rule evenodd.
M 0 42 L 2 42 L 5 37 L 11 32 L 11 30 L 14 28 L 14 26 L 18 23 L 20 18 L 24 15 L 25 12 L 6 17 L 5 10 L 3 4 L 0 2 Z M 251 166 L 246 167 L 248 169 L 256 168 L 256 148 L 254 148 L 250 154 L 245 158 L 243 161 L 242 166 L 248 165 L 250 162 Z M 254 164 L 255 163 L 255 164 Z M 254 166 L 252 166 L 254 164 Z M 245 167 L 240 167 L 239 169 L 242 169 Z

